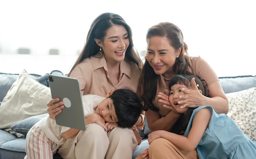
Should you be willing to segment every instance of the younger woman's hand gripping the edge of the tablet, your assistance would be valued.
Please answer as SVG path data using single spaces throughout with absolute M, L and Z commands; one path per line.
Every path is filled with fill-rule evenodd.
M 64 108 L 63 101 L 61 101 L 61 102 L 58 102 L 58 101 L 60 101 L 60 99 L 55 98 L 55 99 L 51 99 L 47 103 L 47 111 L 48 111 L 49 117 L 54 120 L 55 120 L 55 117 L 58 114 L 60 114 L 61 110 Z M 58 102 L 58 103 L 56 103 L 56 102 Z

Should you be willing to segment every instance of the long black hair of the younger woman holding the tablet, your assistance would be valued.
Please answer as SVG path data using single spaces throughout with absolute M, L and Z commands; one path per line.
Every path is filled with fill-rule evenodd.
M 81 63 L 86 58 L 91 56 L 95 56 L 99 52 L 99 46 L 94 41 L 94 38 L 100 39 L 104 41 L 106 36 L 106 31 L 114 26 L 114 25 L 121 25 L 123 26 L 128 32 L 128 38 L 130 40 L 130 45 L 128 46 L 125 54 L 125 60 L 130 60 L 137 64 L 137 66 L 141 69 L 142 67 L 142 60 L 139 58 L 138 52 L 135 50 L 133 42 L 132 42 L 132 30 L 124 21 L 124 19 L 115 13 L 102 13 L 99 15 L 93 22 L 87 34 L 85 46 L 83 47 L 82 52 L 80 53 L 78 59 L 76 60 L 75 64 L 73 65 L 72 70 L 76 65 Z M 103 52 L 102 52 L 103 54 Z M 69 74 L 70 75 L 70 74 Z

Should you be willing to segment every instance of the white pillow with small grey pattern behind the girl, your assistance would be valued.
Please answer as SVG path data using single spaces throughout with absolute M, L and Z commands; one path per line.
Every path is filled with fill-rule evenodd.
M 226 94 L 231 117 L 243 133 L 256 141 L 256 87 Z

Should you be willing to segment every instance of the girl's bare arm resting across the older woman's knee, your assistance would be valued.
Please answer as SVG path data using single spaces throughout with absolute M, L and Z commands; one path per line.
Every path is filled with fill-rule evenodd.
M 184 137 L 182 135 L 174 134 L 164 130 L 157 130 L 153 131 L 148 135 L 148 143 L 150 144 L 153 140 L 162 137 L 164 139 L 167 139 L 168 141 L 171 141 L 173 144 L 184 150 L 194 150 L 202 139 L 202 136 L 209 124 L 209 121 L 211 120 L 211 115 L 211 110 L 209 110 L 208 108 L 199 110 L 193 119 L 193 124 L 188 137 Z

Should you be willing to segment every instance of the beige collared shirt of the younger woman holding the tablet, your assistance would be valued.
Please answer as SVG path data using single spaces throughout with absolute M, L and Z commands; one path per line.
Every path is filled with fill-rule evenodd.
M 113 85 L 108 75 L 108 68 L 105 56 L 98 52 L 95 56 L 85 59 L 77 65 L 70 74 L 70 77 L 79 80 L 81 94 L 95 94 L 106 97 L 110 90 L 122 87 L 130 87 L 138 92 L 140 70 L 135 63 L 123 60 L 120 62 L 119 82 Z M 141 114 L 142 123 L 138 126 L 143 128 L 145 113 Z

